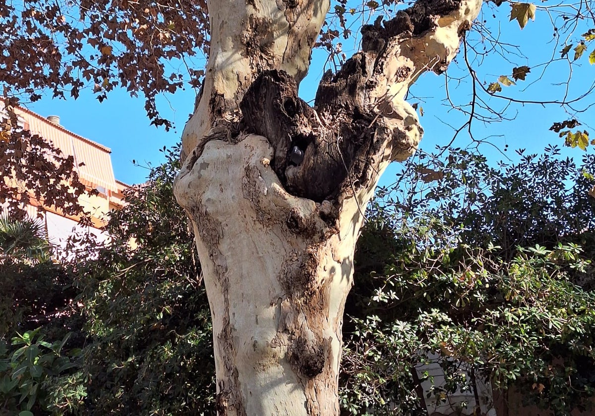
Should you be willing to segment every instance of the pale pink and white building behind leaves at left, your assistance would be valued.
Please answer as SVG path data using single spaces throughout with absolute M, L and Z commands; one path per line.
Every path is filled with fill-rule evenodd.
M 45 118 L 25 108 L 17 108 L 16 112 L 23 119 L 23 127 L 26 130 L 30 130 L 32 134 L 39 134 L 50 141 L 65 156 L 73 156 L 80 181 L 87 190 L 98 191 L 98 194 L 94 196 L 83 194 L 79 197 L 79 204 L 90 214 L 92 223 L 90 227 L 80 226 L 80 218 L 65 215 L 55 207 L 43 206 L 45 212 L 42 220 L 49 241 L 57 247 L 64 247 L 66 240 L 73 232 L 90 232 L 100 241 L 107 239 L 107 234 L 102 232 L 101 228 L 107 222 L 109 211 L 123 206 L 124 191 L 129 188 L 129 185 L 114 177 L 111 150 L 67 130 L 60 125 L 58 116 Z M 27 206 L 30 216 L 38 216 L 37 206 L 40 204 L 42 204 L 40 201 L 32 198 L 31 204 Z

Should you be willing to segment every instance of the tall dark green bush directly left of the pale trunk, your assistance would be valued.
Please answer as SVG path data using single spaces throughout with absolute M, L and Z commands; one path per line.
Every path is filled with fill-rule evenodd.
M 165 152 L 165 149 L 164 149 Z M 90 344 L 86 414 L 213 414 L 211 315 L 186 215 L 174 200 L 178 149 L 112 213 L 111 244 L 79 264 Z

